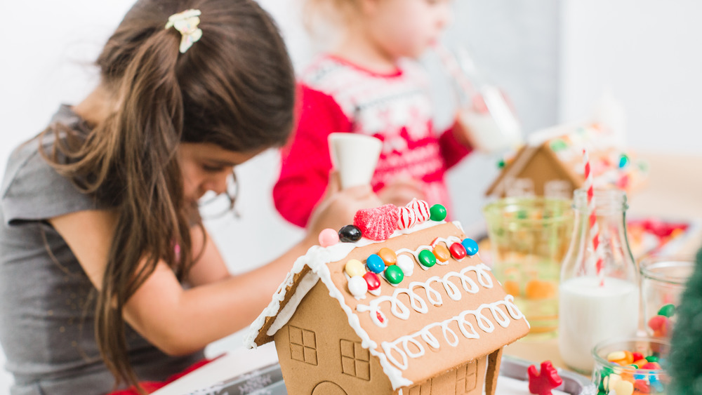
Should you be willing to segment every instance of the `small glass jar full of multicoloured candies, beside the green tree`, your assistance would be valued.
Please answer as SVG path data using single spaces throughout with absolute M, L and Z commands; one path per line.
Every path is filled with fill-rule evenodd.
M 607 356 L 624 351 L 629 352 L 629 355 L 637 352 L 644 358 L 649 357 L 661 368 L 643 369 L 642 366 L 646 366 L 643 363 L 637 366 L 608 361 Z M 670 383 L 670 376 L 665 372 L 665 359 L 668 358 L 669 352 L 670 343 L 654 337 L 620 337 L 605 340 L 592 349 L 592 357 L 595 360 L 592 382 L 597 386 L 599 394 L 665 394 Z

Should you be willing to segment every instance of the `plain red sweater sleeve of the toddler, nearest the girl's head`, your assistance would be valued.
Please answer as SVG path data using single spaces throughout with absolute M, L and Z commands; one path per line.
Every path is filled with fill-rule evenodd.
M 333 132 L 349 132 L 351 121 L 331 96 L 307 86 L 300 86 L 299 92 L 298 124 L 281 152 L 280 177 L 273 187 L 273 200 L 282 217 L 305 227 L 329 183 L 327 137 Z

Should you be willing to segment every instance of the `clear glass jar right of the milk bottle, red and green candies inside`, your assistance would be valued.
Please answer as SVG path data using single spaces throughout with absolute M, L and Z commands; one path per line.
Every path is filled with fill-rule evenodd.
M 641 260 L 641 301 L 646 332 L 670 339 L 675 309 L 694 271 L 692 257 L 651 256 Z

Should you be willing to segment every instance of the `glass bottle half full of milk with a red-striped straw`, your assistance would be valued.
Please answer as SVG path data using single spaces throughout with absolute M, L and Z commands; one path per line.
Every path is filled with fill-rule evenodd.
M 559 286 L 560 354 L 567 366 L 581 373 L 592 370 L 595 344 L 635 335 L 639 315 L 638 272 L 626 236 L 626 195 L 617 189 L 595 189 L 594 199 L 598 253 L 593 249 L 588 196 L 578 189 L 573 236 Z

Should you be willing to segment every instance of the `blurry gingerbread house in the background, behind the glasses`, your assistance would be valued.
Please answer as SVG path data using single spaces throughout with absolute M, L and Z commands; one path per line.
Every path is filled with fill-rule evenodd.
M 588 149 L 596 188 L 632 192 L 647 178 L 647 163 L 619 147 L 607 126 L 573 124 L 530 135 L 526 145 L 501 162 L 502 170 L 486 195 L 534 194 L 569 199 L 585 182 L 583 149 Z

